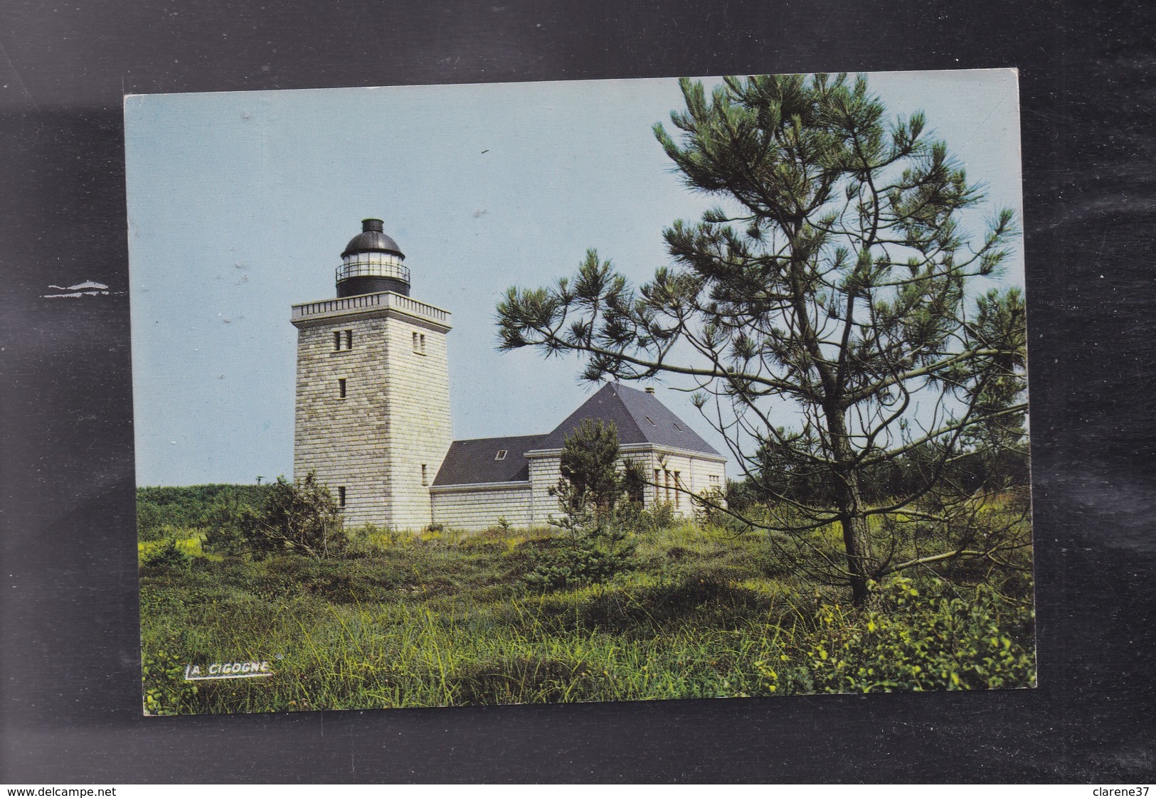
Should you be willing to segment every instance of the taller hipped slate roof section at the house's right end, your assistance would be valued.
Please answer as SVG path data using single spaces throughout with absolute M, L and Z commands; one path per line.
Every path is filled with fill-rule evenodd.
M 536 449 L 562 449 L 565 437 L 585 420 L 613 421 L 618 429 L 618 443 L 651 443 L 672 449 L 688 449 L 721 457 L 711 444 L 698 437 L 684 421 L 653 394 L 607 383 L 565 421 L 544 436 Z

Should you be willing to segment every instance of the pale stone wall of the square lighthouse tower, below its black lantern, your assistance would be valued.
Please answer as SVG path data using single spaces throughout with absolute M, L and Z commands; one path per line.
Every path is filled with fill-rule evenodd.
M 428 483 L 452 439 L 447 326 L 368 308 L 296 318 L 294 476 L 310 470 L 338 497 L 346 523 L 417 530 L 430 524 Z M 353 348 L 344 348 L 344 331 Z M 342 334 L 334 349 L 334 332 Z M 424 353 L 413 334 L 424 335 Z M 340 397 L 339 380 L 346 380 Z M 422 465 L 425 466 L 424 482 Z

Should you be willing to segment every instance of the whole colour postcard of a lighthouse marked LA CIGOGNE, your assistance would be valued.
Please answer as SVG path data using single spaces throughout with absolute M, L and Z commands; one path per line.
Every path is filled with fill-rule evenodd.
M 1035 685 L 1014 69 L 125 124 L 146 714 Z

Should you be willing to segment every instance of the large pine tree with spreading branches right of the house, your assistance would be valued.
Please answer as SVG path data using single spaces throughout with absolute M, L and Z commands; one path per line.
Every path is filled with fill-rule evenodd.
M 917 564 L 1003 562 L 1024 546 L 1014 519 L 940 532 L 981 515 L 953 464 L 1022 437 L 1022 296 L 969 295 L 1006 259 L 1011 212 L 972 241 L 959 212 L 981 192 L 921 113 L 888 119 L 865 77 L 728 77 L 709 97 L 684 80 L 682 93 L 677 138 L 654 133 L 686 185 L 720 205 L 665 230 L 670 265 L 637 289 L 595 250 L 572 279 L 511 288 L 502 348 L 580 353 L 591 380 L 694 380 L 770 509 L 743 520 L 783 533 L 855 601 Z M 772 422 L 784 407 L 793 424 Z M 916 456 L 919 479 L 867 489 Z M 831 525 L 837 549 L 821 534 Z

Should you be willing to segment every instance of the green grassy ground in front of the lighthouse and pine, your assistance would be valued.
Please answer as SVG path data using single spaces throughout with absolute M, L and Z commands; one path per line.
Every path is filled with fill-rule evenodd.
M 564 544 L 544 532 L 378 534 L 347 559 L 258 562 L 206 555 L 195 534 L 176 538 L 187 557 L 154 557 L 165 541 L 141 548 L 144 684 L 155 714 L 921 689 L 935 679 L 950 687 L 950 674 L 964 674 L 966 687 L 1035 679 L 1022 601 L 985 593 L 987 604 L 953 608 L 944 591 L 957 589 L 928 584 L 916 615 L 916 600 L 899 591 L 870 611 L 883 613 L 876 618 L 843 607 L 837 591 L 781 576 L 764 539 L 692 524 L 636 535 L 633 567 L 605 583 L 541 593 L 523 579 Z M 990 622 L 965 618 L 992 601 Z M 950 649 L 946 664 L 934 665 L 943 677 L 920 681 L 924 671 L 911 667 L 932 667 L 928 644 L 904 635 L 924 635 L 911 619 L 943 613 L 927 633 L 948 630 L 936 644 Z M 872 618 L 882 629 L 883 616 L 891 626 L 867 630 Z M 999 648 L 1015 660 L 983 666 L 999 678 L 956 663 L 956 649 L 965 659 L 991 658 L 969 641 L 993 634 L 1011 641 Z M 888 660 L 888 646 L 906 671 L 868 679 L 865 666 L 857 675 L 859 659 Z M 269 662 L 275 675 L 183 678 L 188 664 L 250 659 Z

